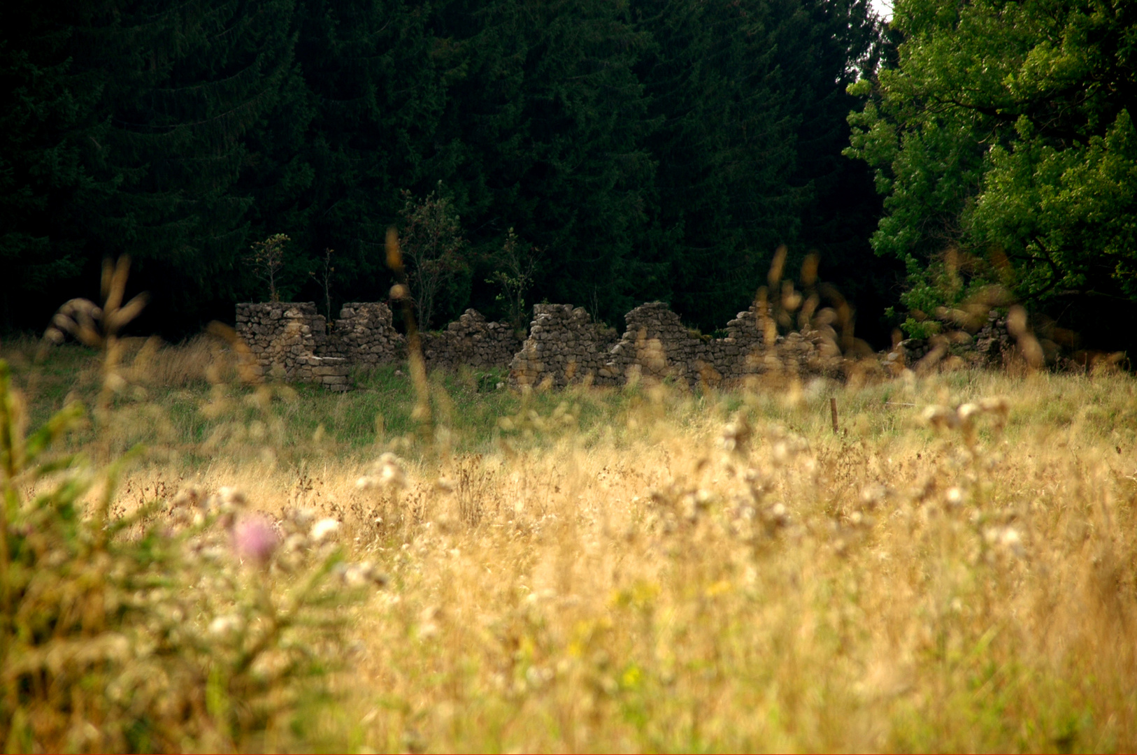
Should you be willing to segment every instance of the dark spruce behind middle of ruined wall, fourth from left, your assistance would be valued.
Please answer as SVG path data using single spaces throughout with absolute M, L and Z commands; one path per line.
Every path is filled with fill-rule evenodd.
M 606 0 L 453 3 L 438 33 L 463 53 L 440 141 L 462 146 L 471 241 L 499 249 L 514 227 L 542 250 L 534 298 L 619 322 L 639 298 L 654 173 L 645 35 Z

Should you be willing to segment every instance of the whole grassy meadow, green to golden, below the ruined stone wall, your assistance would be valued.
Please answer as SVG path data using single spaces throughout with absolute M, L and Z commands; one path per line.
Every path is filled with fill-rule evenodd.
M 1129 374 L 467 372 L 428 413 L 406 365 L 109 350 L 0 345 L 7 752 L 1137 747 Z

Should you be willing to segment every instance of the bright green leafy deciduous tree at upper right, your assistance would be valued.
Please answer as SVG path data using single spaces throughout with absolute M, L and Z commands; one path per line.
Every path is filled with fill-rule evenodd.
M 899 0 L 893 25 L 898 65 L 850 89 L 872 97 L 847 154 L 887 196 L 873 247 L 907 266 L 904 304 L 995 282 L 1137 301 L 1132 3 Z M 962 285 L 945 250 L 981 260 Z

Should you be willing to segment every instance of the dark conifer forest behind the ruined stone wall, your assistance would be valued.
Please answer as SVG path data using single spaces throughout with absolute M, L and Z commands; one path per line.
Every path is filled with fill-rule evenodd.
M 864 0 L 14 0 L 0 26 L 9 331 L 127 254 L 139 326 L 191 334 L 267 298 L 250 247 L 281 233 L 281 298 L 323 308 L 326 268 L 333 307 L 382 300 L 385 231 L 433 196 L 459 229 L 433 325 L 507 316 L 520 262 L 526 302 L 709 331 L 785 243 L 887 339 L 903 268 L 841 155 L 881 55 Z

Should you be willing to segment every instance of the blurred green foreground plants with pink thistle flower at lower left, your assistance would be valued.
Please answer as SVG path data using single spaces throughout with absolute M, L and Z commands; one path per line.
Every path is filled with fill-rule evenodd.
M 96 431 L 106 432 L 127 264 L 106 302 L 69 302 L 56 325 L 102 350 Z M 117 380 L 116 380 L 117 379 Z M 342 611 L 381 582 L 347 564 L 339 523 L 186 488 L 126 511 L 116 483 L 140 448 L 100 462 L 56 449 L 86 422 L 69 403 L 26 433 L 0 360 L 0 742 L 5 752 L 279 749 L 313 736 L 300 712 L 327 699 L 345 657 Z M 102 461 L 107 459 L 107 461 Z M 310 720 L 313 716 L 305 716 Z

